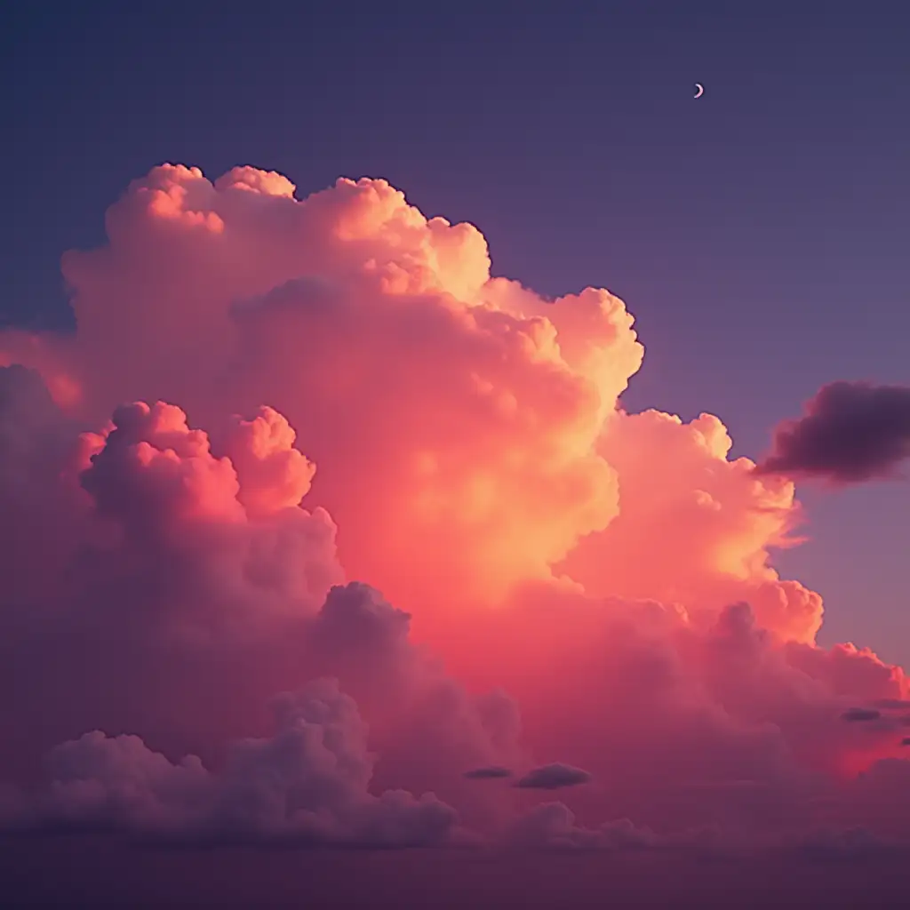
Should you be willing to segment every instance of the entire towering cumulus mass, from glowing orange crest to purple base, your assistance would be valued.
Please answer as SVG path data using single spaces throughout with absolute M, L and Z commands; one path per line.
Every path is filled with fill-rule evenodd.
M 622 410 L 642 346 L 606 290 L 491 278 L 381 180 L 294 194 L 157 167 L 64 257 L 76 334 L 0 336 L 2 824 L 910 834 L 904 672 L 818 646 L 772 565 L 817 428 L 730 460 L 712 415 Z

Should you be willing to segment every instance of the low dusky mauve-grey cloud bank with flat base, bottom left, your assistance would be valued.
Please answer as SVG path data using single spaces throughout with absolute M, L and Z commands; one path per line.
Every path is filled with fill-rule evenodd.
M 95 731 L 49 755 L 51 781 L 7 824 L 115 830 L 196 844 L 426 846 L 457 815 L 431 794 L 368 792 L 373 758 L 357 705 L 319 680 L 276 702 L 270 739 L 233 743 L 223 772 L 171 763 L 137 736 Z

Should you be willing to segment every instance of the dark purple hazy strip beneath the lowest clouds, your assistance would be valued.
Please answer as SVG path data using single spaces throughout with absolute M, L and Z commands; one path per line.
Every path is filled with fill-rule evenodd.
M 604 859 L 570 854 L 549 859 L 516 854 L 288 854 L 236 850 L 229 853 L 138 852 L 103 841 L 52 840 L 15 844 L 0 857 L 0 874 L 38 906 L 88 910 L 98 906 L 268 906 L 352 908 L 388 906 L 420 910 L 432 895 L 441 910 L 501 910 L 523 906 L 701 906 L 743 910 L 778 905 L 852 910 L 869 905 L 903 906 L 905 875 L 880 860 L 844 863 L 819 860 L 718 863 L 693 860 L 655 875 L 648 855 Z M 415 862 L 417 859 L 417 862 Z M 48 878 L 51 866 L 61 870 Z M 99 870 L 106 875 L 98 875 Z M 141 885 L 137 885 L 141 883 Z M 268 896 L 266 896 L 268 895 Z M 381 897 L 379 896 L 381 895 Z M 392 903 L 393 902 L 393 903 Z M 607 904 L 609 905 L 609 904 Z M 24 905 L 25 906 L 25 905 Z

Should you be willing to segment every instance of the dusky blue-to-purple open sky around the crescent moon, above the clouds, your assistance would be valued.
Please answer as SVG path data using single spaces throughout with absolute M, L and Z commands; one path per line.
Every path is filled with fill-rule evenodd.
M 626 406 L 712 411 L 737 453 L 825 381 L 910 382 L 910 8 L 541 8 L 7 6 L 0 319 L 66 327 L 60 254 L 149 167 L 251 164 L 386 177 L 497 274 L 610 288 L 648 349 Z M 810 495 L 780 562 L 824 641 L 910 659 L 908 506 Z

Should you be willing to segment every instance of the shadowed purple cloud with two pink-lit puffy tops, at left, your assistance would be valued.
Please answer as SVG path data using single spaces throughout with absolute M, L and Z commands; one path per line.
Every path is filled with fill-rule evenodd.
M 57 527 L 75 529 L 66 561 L 25 574 L 30 598 L 7 589 L 0 613 L 16 683 L 5 708 L 25 742 L 49 748 L 101 726 L 217 759 L 226 738 L 263 729 L 272 694 L 329 674 L 356 694 L 378 738 L 422 736 L 434 768 L 515 757 L 507 698 L 472 699 L 413 646 L 407 613 L 365 584 L 339 584 L 335 525 L 299 504 L 313 470 L 284 419 L 267 410 L 225 426 L 229 458 L 182 410 L 140 402 L 118 408 L 101 433 L 71 430 L 44 474 L 25 451 L 23 467 L 37 472 L 33 507 L 46 500 L 62 513 Z M 20 474 L 5 475 L 11 492 L 22 490 Z M 36 534 L 30 547 L 37 568 L 51 551 Z M 39 705 L 36 726 L 28 718 Z M 20 750 L 7 742 L 0 760 L 26 765 Z M 386 764 L 412 761 L 395 758 L 394 745 L 386 752 Z M 458 779 L 460 769 L 447 773 Z

